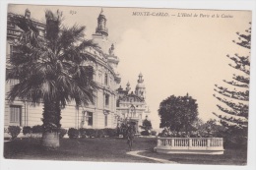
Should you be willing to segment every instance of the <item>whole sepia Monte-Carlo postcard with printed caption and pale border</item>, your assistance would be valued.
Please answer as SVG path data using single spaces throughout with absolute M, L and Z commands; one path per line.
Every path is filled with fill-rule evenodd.
M 4 160 L 247 166 L 251 10 L 6 13 Z

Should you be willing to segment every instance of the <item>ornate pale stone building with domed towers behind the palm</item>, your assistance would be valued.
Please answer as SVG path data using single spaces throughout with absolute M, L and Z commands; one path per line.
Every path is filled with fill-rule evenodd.
M 9 16 L 16 15 L 8 13 Z M 25 11 L 26 19 L 31 20 L 33 25 L 39 29 L 39 35 L 45 35 L 45 23 L 31 18 L 31 12 Z M 145 102 L 146 87 L 143 84 L 143 76 L 139 75 L 138 85 L 135 92 L 130 91 L 130 85 L 126 89 L 118 86 L 121 83 L 120 75 L 117 72 L 119 58 L 114 54 L 115 46 L 108 40 L 108 29 L 106 27 L 106 17 L 103 11 L 97 17 L 96 32 L 93 34 L 93 40 L 101 47 L 86 48 L 85 53 L 95 58 L 95 61 L 89 61 L 86 64 L 95 69 L 94 81 L 99 86 L 96 90 L 95 104 L 89 104 L 86 107 L 76 107 L 74 103 L 69 103 L 61 110 L 62 128 L 116 128 L 122 121 L 129 118 L 137 124 L 137 130 L 140 131 L 140 125 L 145 114 L 148 115 L 149 109 Z M 7 58 L 15 53 L 14 41 L 21 35 L 22 30 L 17 26 L 7 25 Z M 12 85 L 15 83 L 12 82 Z M 6 93 L 12 87 L 6 83 Z M 5 100 L 4 125 L 8 126 L 34 126 L 41 125 L 42 104 L 39 106 L 29 105 L 27 101 L 15 100 L 10 103 Z

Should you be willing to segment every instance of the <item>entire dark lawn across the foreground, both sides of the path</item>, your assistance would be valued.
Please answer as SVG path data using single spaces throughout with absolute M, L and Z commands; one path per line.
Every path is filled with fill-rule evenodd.
M 129 149 L 123 139 L 62 139 L 60 145 L 57 150 L 45 150 L 40 146 L 39 140 L 16 139 L 4 143 L 4 157 L 8 159 L 157 163 L 151 159 L 126 154 Z M 224 155 L 164 154 L 153 151 L 156 145 L 156 139 L 136 138 L 133 150 L 145 150 L 139 154 L 182 164 L 246 164 L 246 150 L 244 149 L 225 149 Z

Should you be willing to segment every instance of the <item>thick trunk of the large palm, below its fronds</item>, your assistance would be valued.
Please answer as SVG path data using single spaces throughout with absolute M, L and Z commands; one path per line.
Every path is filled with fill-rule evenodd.
M 41 144 L 45 147 L 59 147 L 60 105 L 59 102 L 44 101 Z

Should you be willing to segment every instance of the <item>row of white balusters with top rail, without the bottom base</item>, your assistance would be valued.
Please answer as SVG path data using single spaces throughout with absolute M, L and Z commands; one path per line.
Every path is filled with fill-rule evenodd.
M 157 148 L 179 150 L 224 150 L 222 138 L 158 138 Z

